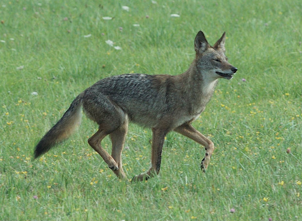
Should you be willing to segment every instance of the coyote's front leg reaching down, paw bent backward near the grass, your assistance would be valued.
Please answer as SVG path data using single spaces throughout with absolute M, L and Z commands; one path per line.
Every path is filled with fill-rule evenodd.
M 147 173 L 134 176 L 132 181 L 148 180 L 156 174 L 159 174 L 160 163 L 162 157 L 162 148 L 165 141 L 167 130 L 152 128 L 152 153 L 151 153 L 151 167 Z

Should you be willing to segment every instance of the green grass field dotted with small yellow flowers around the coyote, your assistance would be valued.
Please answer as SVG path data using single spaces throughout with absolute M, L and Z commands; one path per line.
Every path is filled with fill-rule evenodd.
M 67 2 L 0 4 L 0 220 L 302 220 L 301 0 Z M 89 147 L 86 117 L 33 160 L 77 94 L 112 75 L 186 71 L 199 30 L 211 44 L 226 31 L 238 68 L 193 123 L 216 147 L 206 174 L 204 148 L 170 133 L 157 177 L 120 181 Z M 130 125 L 129 179 L 149 168 L 150 139 Z

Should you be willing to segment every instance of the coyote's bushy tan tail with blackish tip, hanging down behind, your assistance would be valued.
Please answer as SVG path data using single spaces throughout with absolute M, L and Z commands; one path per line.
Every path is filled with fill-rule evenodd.
M 76 130 L 81 123 L 81 106 L 82 94 L 76 97 L 63 117 L 38 142 L 34 153 L 35 159 L 59 142 L 66 140 Z

